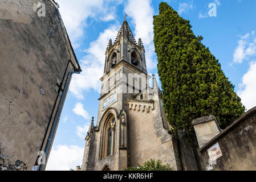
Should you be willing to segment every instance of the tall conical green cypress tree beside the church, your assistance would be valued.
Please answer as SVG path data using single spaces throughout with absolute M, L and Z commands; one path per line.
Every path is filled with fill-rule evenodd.
M 192 120 L 214 115 L 222 129 L 245 112 L 234 85 L 221 70 L 221 64 L 167 3 L 160 3 L 154 16 L 154 43 L 158 72 L 168 121 L 173 133 L 185 130 L 193 144 Z

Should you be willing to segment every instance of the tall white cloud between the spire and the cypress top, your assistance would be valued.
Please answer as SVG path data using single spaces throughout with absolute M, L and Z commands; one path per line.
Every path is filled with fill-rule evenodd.
M 138 15 L 139 12 L 139 15 Z M 145 47 L 145 56 L 147 62 L 147 69 L 156 68 L 156 61 L 153 60 L 155 55 L 155 46 L 153 43 L 153 13 L 150 0 L 137 1 L 129 0 L 125 6 L 125 13 L 132 18 L 132 23 L 135 24 L 135 38 L 141 38 Z

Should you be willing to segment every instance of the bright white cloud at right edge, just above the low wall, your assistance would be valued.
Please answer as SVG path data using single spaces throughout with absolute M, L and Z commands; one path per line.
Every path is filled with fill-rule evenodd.
M 238 96 L 241 97 L 242 104 L 249 110 L 256 106 L 256 61 L 251 61 L 250 68 L 242 78 L 239 85 Z

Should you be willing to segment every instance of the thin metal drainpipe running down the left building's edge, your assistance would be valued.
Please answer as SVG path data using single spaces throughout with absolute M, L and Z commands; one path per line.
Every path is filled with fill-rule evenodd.
M 63 93 L 62 93 L 62 97 L 60 98 L 60 102 L 59 102 L 57 114 L 56 114 L 56 117 L 54 118 L 54 123 L 53 123 L 52 128 L 51 128 L 51 133 L 50 133 L 49 138 L 48 138 L 48 140 L 47 140 L 46 150 L 45 150 L 45 156 L 46 156 L 46 158 L 47 158 L 47 155 L 48 155 L 48 150 L 49 150 L 49 148 L 50 148 L 52 136 L 54 135 L 54 130 L 55 130 L 55 127 L 56 127 L 56 123 L 57 123 L 58 118 L 59 118 L 60 109 L 62 108 L 63 100 L 64 100 L 64 97 L 65 97 L 66 92 L 67 92 L 68 82 L 70 82 L 71 74 L 72 74 L 72 73 L 80 74 L 80 72 L 82 72 L 82 70 L 80 70 L 79 72 L 74 72 L 74 71 L 68 72 L 68 77 L 67 77 L 66 84 L 65 84 L 65 87 L 64 87 L 64 90 L 63 90 Z M 45 158 L 45 159 L 46 159 L 46 158 Z M 45 164 L 41 164 L 41 165 L 40 165 L 39 171 L 43 171 L 43 166 L 44 166 L 44 165 L 45 165 Z

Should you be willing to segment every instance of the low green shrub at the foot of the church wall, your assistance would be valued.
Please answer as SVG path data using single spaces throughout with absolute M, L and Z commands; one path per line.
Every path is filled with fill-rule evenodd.
M 138 167 L 128 167 L 124 171 L 172 171 L 172 168 L 170 168 L 169 164 L 162 164 L 161 160 L 150 159 L 143 166 L 138 164 Z

